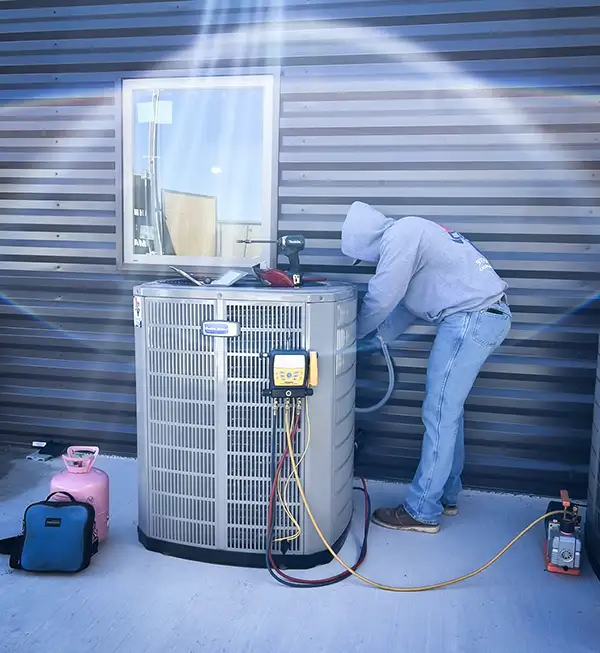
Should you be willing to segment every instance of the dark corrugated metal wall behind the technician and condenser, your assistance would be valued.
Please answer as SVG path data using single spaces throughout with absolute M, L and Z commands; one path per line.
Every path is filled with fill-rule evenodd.
M 465 480 L 585 496 L 598 0 L 8 0 L 0 31 L 0 438 L 134 451 L 141 277 L 115 263 L 118 80 L 280 64 L 280 231 L 309 237 L 311 269 L 361 284 L 339 254 L 355 199 L 477 241 L 515 322 L 468 402 Z M 361 424 L 370 476 L 416 466 L 431 340 L 419 326 L 394 348 L 396 392 Z M 366 399 L 384 391 L 380 358 L 360 385 Z

